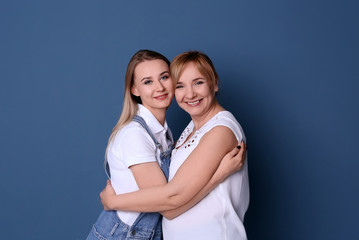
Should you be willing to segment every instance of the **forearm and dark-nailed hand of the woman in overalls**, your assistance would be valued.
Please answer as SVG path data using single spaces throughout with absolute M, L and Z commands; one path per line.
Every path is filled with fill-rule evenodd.
M 215 187 L 222 183 L 227 177 L 236 171 L 239 171 L 242 168 L 245 159 L 246 147 L 242 141 L 240 144 L 240 150 L 238 147 L 236 147 L 224 156 L 213 177 L 194 198 L 179 208 L 162 211 L 161 214 L 167 219 L 173 219 L 188 211 L 190 208 L 200 202 L 205 196 L 207 196 L 207 194 L 209 194 Z

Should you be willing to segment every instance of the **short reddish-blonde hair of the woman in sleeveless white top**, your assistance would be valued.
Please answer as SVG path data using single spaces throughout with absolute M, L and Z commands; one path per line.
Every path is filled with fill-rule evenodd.
M 211 82 L 212 86 L 218 84 L 218 74 L 211 59 L 202 52 L 188 51 L 176 56 L 171 62 L 170 71 L 174 86 L 188 63 L 194 63 L 198 71 Z

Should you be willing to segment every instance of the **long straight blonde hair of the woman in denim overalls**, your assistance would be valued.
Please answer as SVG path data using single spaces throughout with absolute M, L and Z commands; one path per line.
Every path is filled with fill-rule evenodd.
M 123 128 L 129 122 L 131 122 L 132 118 L 137 114 L 138 111 L 137 104 L 142 103 L 140 97 L 137 97 L 131 93 L 131 88 L 133 86 L 133 80 L 134 80 L 134 75 L 137 65 L 144 61 L 157 60 L 157 59 L 163 60 L 164 62 L 167 63 L 168 66 L 170 66 L 170 62 L 165 56 L 163 56 L 158 52 L 147 50 L 147 49 L 139 50 L 138 52 L 136 52 L 132 56 L 130 62 L 128 63 L 126 75 L 125 75 L 125 89 L 124 89 L 122 112 L 117 124 L 112 129 L 112 133 L 108 139 L 105 159 L 107 158 L 107 152 L 109 146 L 113 141 L 113 139 L 115 138 L 116 134 L 121 130 L 121 128 Z

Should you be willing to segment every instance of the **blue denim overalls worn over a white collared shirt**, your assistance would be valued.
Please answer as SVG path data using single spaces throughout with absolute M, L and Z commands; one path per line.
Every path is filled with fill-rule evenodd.
M 163 151 L 162 145 L 156 140 L 145 120 L 140 116 L 135 116 L 133 121 L 141 124 L 148 132 L 156 145 L 156 149 L 160 150 L 161 169 L 168 180 L 169 166 L 171 162 L 171 152 L 173 149 L 172 133 L 168 129 L 168 137 L 172 145 L 167 151 Z M 109 166 L 105 161 L 106 174 L 110 178 Z M 97 222 L 86 238 L 86 240 L 161 240 L 162 239 L 162 216 L 159 213 L 140 213 L 132 226 L 122 222 L 116 211 L 102 211 Z

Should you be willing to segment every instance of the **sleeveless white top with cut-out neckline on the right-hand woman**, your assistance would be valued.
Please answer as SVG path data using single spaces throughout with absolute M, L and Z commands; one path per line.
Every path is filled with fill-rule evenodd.
M 181 146 L 193 130 L 191 121 L 177 142 Z M 172 151 L 169 179 L 172 179 L 188 155 L 196 148 L 202 136 L 215 126 L 226 126 L 238 142 L 245 141 L 243 130 L 228 111 L 219 112 L 187 140 Z M 243 226 L 249 204 L 247 160 L 243 168 L 218 185 L 201 202 L 173 220 L 163 218 L 164 239 L 169 240 L 242 240 L 247 239 Z

